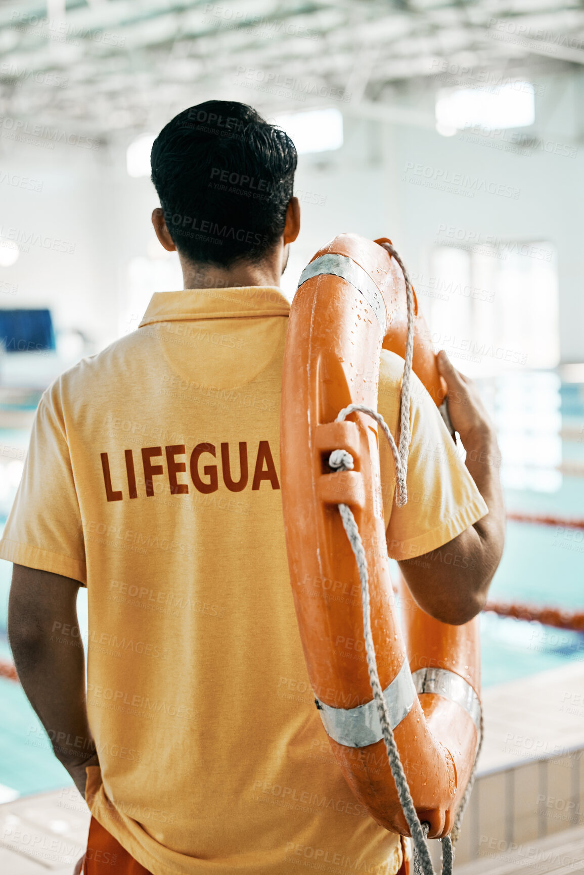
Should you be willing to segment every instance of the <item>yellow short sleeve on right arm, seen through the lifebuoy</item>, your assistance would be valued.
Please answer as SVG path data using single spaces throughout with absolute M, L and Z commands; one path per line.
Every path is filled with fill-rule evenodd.
M 394 436 L 398 433 L 399 393 L 404 360 L 383 352 L 378 409 Z M 380 435 L 383 512 L 388 553 L 392 559 L 422 556 L 452 541 L 489 513 L 433 399 L 412 374 L 408 500 L 394 500 L 395 467 Z

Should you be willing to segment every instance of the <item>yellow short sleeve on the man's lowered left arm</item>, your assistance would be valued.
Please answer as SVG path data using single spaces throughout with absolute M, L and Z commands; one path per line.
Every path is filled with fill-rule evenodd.
M 0 558 L 86 584 L 79 500 L 60 407 L 60 381 L 39 402 Z

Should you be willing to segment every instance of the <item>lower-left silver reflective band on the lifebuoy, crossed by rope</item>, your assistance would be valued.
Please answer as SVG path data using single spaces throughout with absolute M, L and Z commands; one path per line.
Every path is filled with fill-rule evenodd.
M 391 729 L 395 729 L 409 714 L 416 698 L 416 688 L 407 660 L 389 687 L 383 690 L 383 697 L 390 712 Z M 356 708 L 331 708 L 316 699 L 316 706 L 327 735 L 340 745 L 366 747 L 383 739 L 375 699 L 364 705 L 357 705 Z

